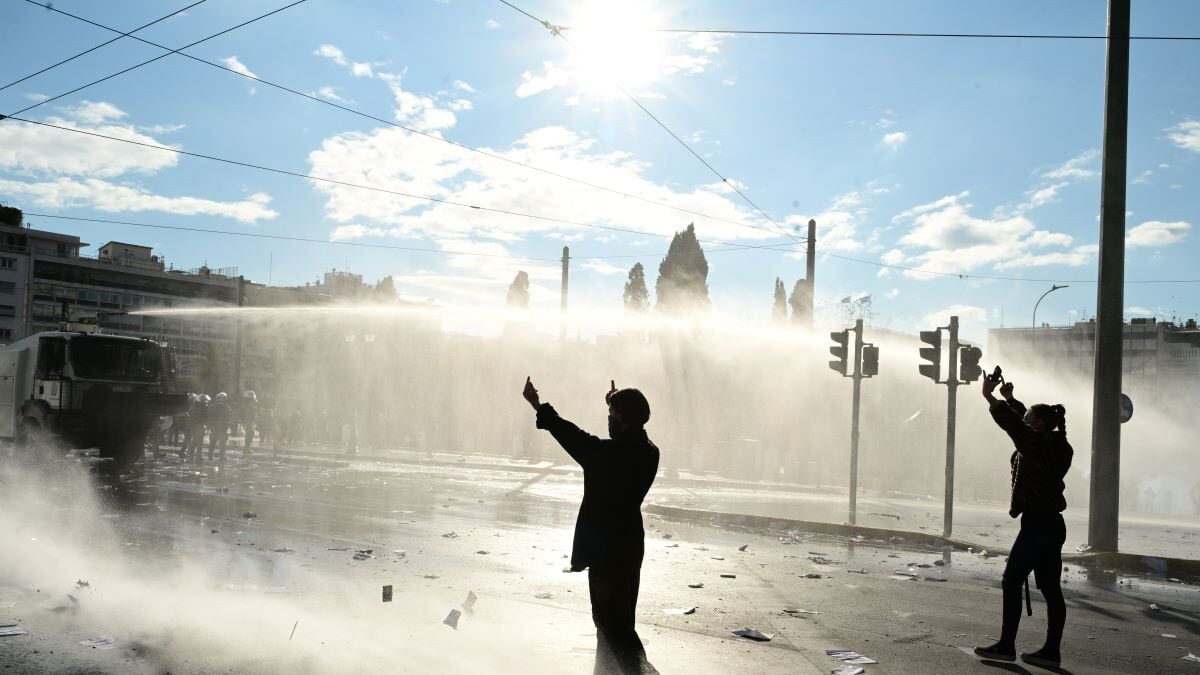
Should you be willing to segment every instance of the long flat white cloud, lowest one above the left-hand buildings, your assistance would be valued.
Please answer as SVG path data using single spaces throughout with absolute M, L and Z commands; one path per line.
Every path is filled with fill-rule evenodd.
M 161 211 L 179 215 L 209 215 L 253 223 L 278 214 L 270 209 L 270 196 L 254 193 L 238 202 L 199 197 L 166 197 L 143 187 L 96 178 L 58 178 L 41 183 L 0 179 L 0 193 L 19 197 L 41 208 L 89 208 L 107 213 Z

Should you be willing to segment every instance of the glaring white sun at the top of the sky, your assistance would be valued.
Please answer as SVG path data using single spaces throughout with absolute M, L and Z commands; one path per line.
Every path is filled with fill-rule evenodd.
M 592 0 L 580 6 L 566 24 L 575 46 L 571 70 L 582 91 L 601 97 L 619 96 L 617 84 L 636 90 L 662 74 L 666 49 L 661 34 L 648 29 L 659 17 L 647 2 Z

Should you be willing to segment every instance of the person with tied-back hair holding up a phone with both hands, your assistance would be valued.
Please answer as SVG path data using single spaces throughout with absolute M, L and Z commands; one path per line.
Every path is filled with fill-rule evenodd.
M 983 395 L 991 406 L 991 417 L 1003 429 L 1016 450 L 1009 459 L 1012 467 L 1012 502 L 1008 515 L 1021 518 L 1021 530 L 1008 554 L 1008 565 L 1001 584 L 1003 589 L 1003 623 L 1000 641 L 986 647 L 976 647 L 976 655 L 997 661 L 1016 659 L 1016 626 L 1021 621 L 1021 589 L 1028 596 L 1028 577 L 1033 572 L 1038 589 L 1046 601 L 1046 641 L 1031 653 L 1021 653 L 1021 661 L 1044 668 L 1057 668 L 1062 629 L 1067 622 L 1067 604 L 1063 602 L 1060 573 L 1062 571 L 1062 544 L 1067 540 L 1067 526 L 1062 512 L 1067 509 L 1063 497 L 1063 478 L 1070 468 L 1074 450 L 1067 442 L 1067 411 L 1060 404 L 1038 404 L 1026 410 L 1025 404 L 1013 398 L 1013 383 L 1000 387 L 1004 400 L 998 401 L 992 392 L 997 380 L 985 377 Z M 1028 602 L 1028 601 L 1026 601 Z

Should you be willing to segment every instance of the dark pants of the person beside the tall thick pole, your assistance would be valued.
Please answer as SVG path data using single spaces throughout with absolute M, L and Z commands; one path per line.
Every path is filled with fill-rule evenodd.
M 1062 544 L 1066 540 L 1067 526 L 1061 513 L 1026 513 L 1021 516 L 1021 531 L 1016 534 L 1004 567 L 1004 623 L 1000 633 L 1001 644 L 1013 646 L 1016 641 L 1016 627 L 1021 621 L 1021 592 L 1032 572 L 1046 599 L 1045 649 L 1058 652 L 1062 628 L 1067 623 L 1067 603 L 1062 599 L 1060 583 Z

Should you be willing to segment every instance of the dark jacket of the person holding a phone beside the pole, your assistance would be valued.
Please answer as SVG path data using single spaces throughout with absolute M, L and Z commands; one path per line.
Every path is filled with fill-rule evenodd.
M 991 406 L 996 420 L 1013 444 L 1009 464 L 1013 467 L 1013 498 L 1008 514 L 1013 518 L 1022 513 L 1062 513 L 1067 498 L 1062 482 L 1070 468 L 1075 454 L 1067 442 L 1066 431 L 1034 431 L 1025 424 L 1025 404 L 1016 399 L 996 401 Z

